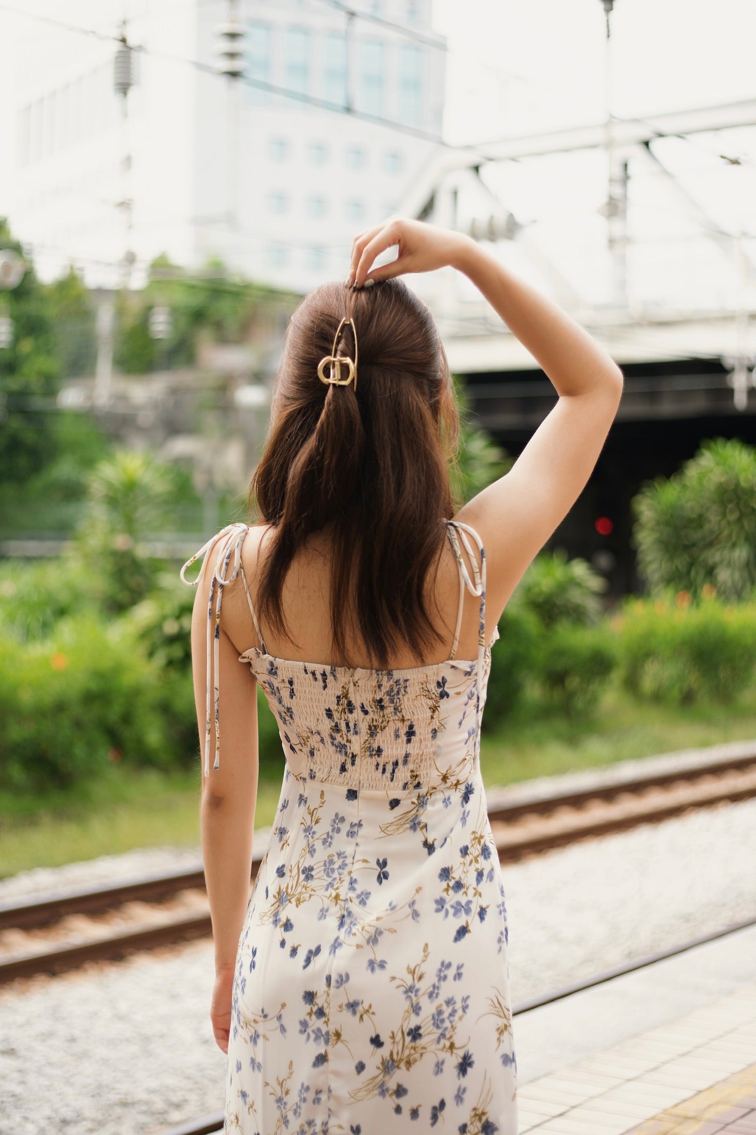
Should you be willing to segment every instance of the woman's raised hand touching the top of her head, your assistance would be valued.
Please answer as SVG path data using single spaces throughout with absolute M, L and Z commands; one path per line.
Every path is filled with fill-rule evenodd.
M 394 244 L 399 245 L 397 259 L 371 272 L 375 258 Z M 472 244 L 462 233 L 434 228 L 406 217 L 390 217 L 355 237 L 347 283 L 363 287 L 366 280 L 388 280 L 405 272 L 432 272 L 447 264 L 456 267 Z

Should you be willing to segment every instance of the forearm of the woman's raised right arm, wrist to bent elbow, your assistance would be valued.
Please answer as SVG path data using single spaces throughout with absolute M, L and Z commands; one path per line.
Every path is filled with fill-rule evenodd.
M 609 354 L 546 296 L 518 279 L 472 239 L 464 239 L 453 264 L 464 272 L 510 331 L 530 352 L 560 396 L 621 385 Z

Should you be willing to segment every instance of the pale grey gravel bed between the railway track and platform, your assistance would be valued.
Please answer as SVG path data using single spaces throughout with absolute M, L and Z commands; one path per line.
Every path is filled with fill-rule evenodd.
M 749 800 L 507 866 L 513 1000 L 756 917 L 755 863 Z M 0 989 L 0 1135 L 146 1135 L 220 1110 L 211 984 L 198 942 Z

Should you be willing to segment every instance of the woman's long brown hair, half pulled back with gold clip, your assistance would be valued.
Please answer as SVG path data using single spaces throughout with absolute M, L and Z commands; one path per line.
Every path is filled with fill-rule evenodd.
M 356 390 L 317 377 L 342 318 L 357 331 Z M 335 353 L 355 358 L 349 325 Z M 249 488 L 258 519 L 273 526 L 257 585 L 263 622 L 291 639 L 283 581 L 308 536 L 328 530 L 333 647 L 347 664 L 355 631 L 381 667 L 398 642 L 422 659 L 441 641 L 425 585 L 443 548 L 442 521 L 455 513 L 449 459 L 458 431 L 439 331 L 401 280 L 311 292 L 287 329 Z

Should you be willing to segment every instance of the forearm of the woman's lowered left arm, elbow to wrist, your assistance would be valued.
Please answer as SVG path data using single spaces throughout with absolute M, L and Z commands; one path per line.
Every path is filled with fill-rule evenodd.
M 249 902 L 254 810 L 219 801 L 205 788 L 201 824 L 215 968 L 229 969 L 236 961 Z

